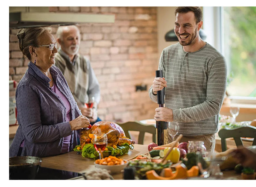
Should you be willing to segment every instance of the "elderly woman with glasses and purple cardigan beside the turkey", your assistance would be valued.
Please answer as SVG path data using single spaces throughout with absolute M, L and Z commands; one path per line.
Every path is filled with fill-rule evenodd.
M 90 122 L 81 115 L 63 74 L 53 66 L 58 50 L 51 29 L 20 29 L 17 37 L 30 62 L 16 90 L 19 127 L 9 156 L 45 157 L 73 151 L 79 130 Z

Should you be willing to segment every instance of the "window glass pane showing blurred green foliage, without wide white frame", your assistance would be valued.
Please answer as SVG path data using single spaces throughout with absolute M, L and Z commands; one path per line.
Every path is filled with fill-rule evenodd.
M 227 93 L 256 96 L 256 7 L 222 7 L 223 49 L 228 65 Z

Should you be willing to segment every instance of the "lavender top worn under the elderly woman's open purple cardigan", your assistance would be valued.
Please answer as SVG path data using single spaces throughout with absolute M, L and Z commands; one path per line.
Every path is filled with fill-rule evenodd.
M 71 119 L 71 107 L 70 104 L 67 100 L 67 98 L 60 92 L 60 90 L 58 89 L 58 87 L 56 86 L 56 84 L 54 84 L 51 87 L 52 91 L 57 94 L 60 99 L 62 100 L 62 102 L 65 104 L 66 107 L 66 111 L 67 111 L 67 115 L 66 115 L 66 122 L 69 122 Z M 63 141 L 63 146 L 61 149 L 61 153 L 67 153 L 69 152 L 69 144 L 70 144 L 70 138 L 71 135 L 64 137 L 64 141 Z

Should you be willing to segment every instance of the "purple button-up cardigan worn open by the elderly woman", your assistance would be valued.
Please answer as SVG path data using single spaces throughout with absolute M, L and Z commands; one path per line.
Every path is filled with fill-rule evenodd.
M 70 103 L 71 120 L 75 119 L 81 112 L 63 74 L 56 66 L 52 66 L 50 72 L 54 83 Z M 73 151 L 77 145 L 79 131 L 71 131 L 69 122 L 65 122 L 65 105 L 51 90 L 49 82 L 50 79 L 29 62 L 16 90 L 19 127 L 9 149 L 9 157 L 17 156 L 22 140 L 25 144 L 21 156 L 60 154 L 64 137 L 68 135 L 71 135 L 69 150 Z

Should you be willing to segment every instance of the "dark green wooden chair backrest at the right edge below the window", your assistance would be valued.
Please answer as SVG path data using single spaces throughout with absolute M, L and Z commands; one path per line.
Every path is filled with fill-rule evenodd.
M 237 146 L 243 146 L 241 137 L 254 138 L 252 145 L 256 145 L 256 127 L 253 126 L 239 127 L 236 129 L 220 129 L 218 135 L 221 138 L 222 151 L 227 150 L 226 138 L 234 138 Z

